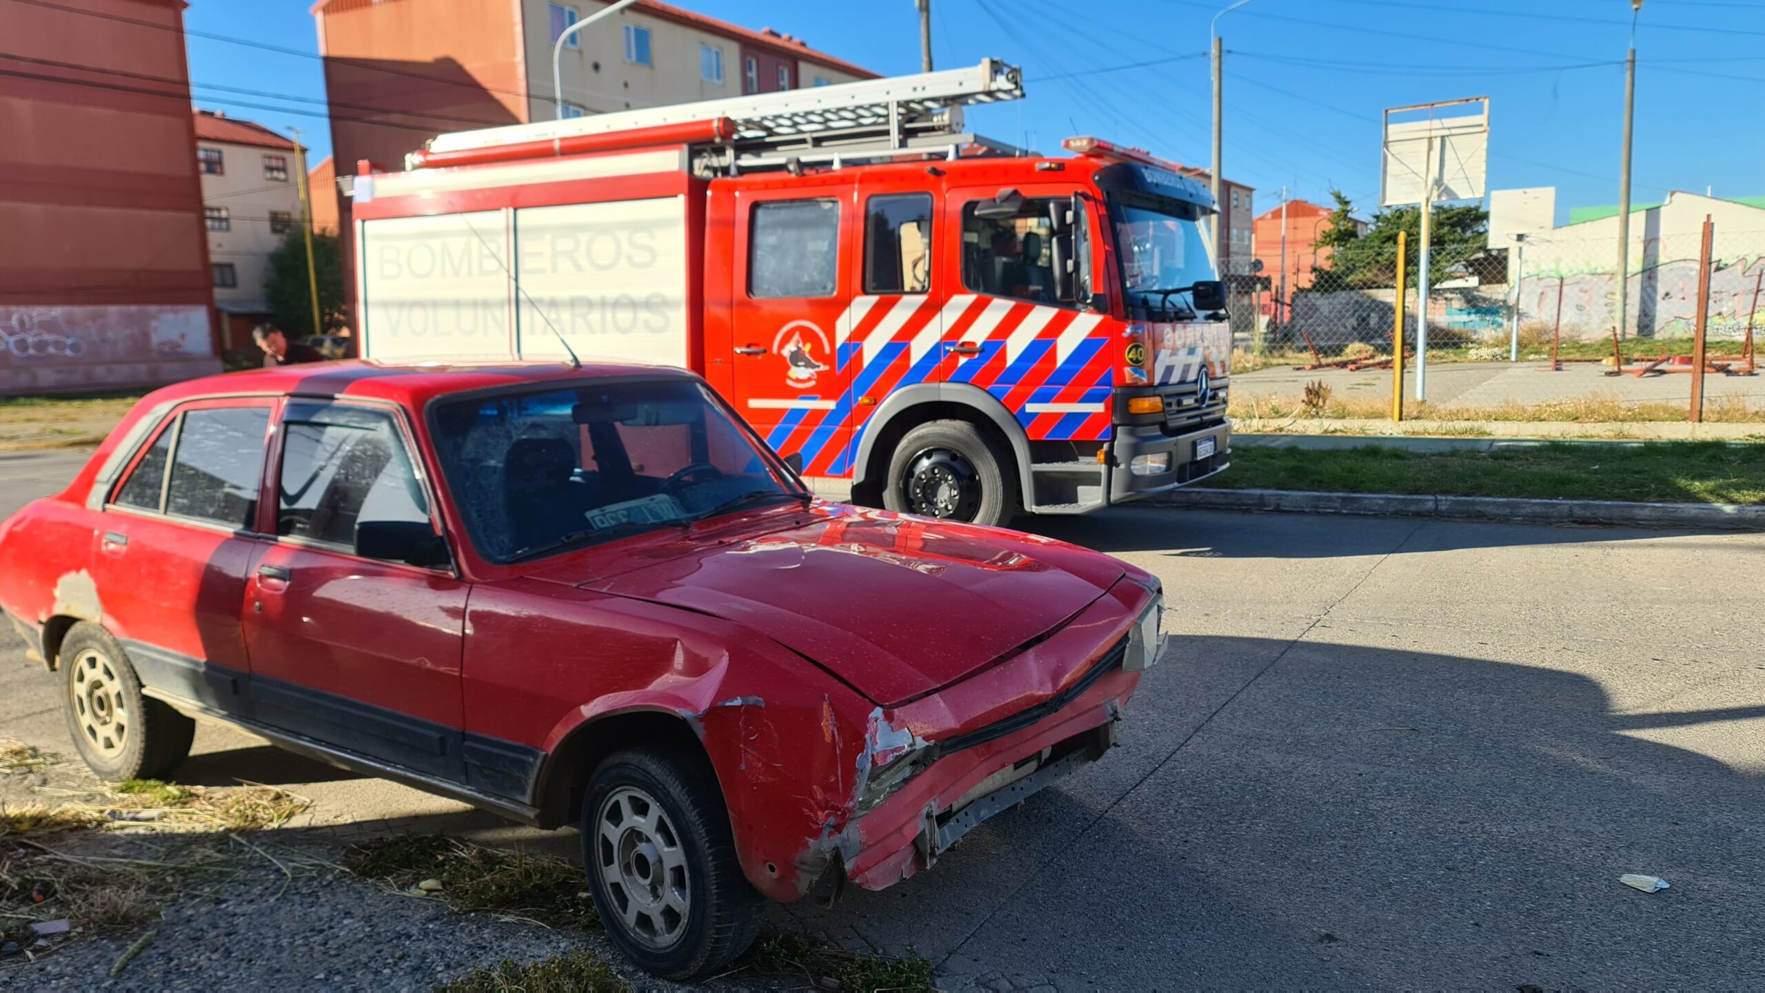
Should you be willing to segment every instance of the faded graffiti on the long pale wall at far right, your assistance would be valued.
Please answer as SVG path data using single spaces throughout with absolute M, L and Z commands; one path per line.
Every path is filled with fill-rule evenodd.
M 1709 337 L 1744 335 L 1749 316 L 1754 319 L 1754 328 L 1765 328 L 1765 298 L 1760 298 L 1761 312 L 1753 314 L 1753 289 L 1761 272 L 1765 256 L 1719 263 L 1712 268 Z M 1629 321 L 1636 335 L 1691 337 L 1698 319 L 1698 259 L 1677 259 L 1645 268 L 1629 277 L 1626 291 Z M 1555 326 L 1558 296 L 1564 337 L 1594 339 L 1611 333 L 1619 302 L 1613 273 L 1527 273 L 1520 291 L 1520 319 Z

